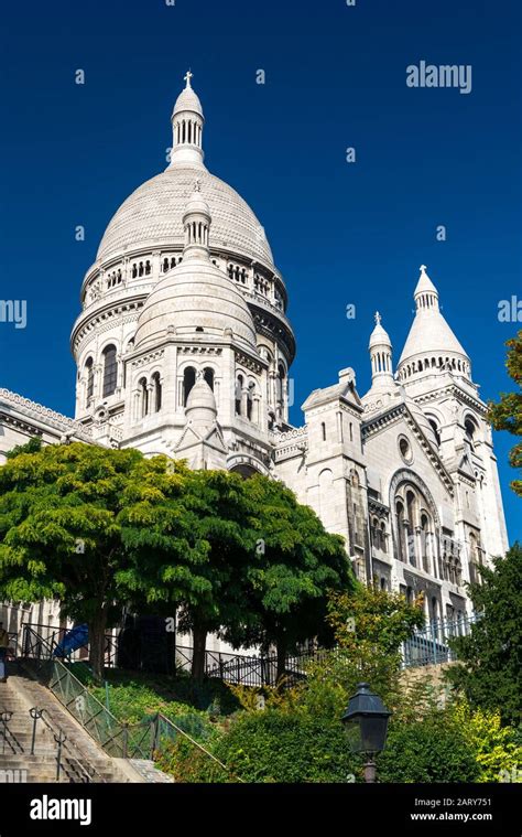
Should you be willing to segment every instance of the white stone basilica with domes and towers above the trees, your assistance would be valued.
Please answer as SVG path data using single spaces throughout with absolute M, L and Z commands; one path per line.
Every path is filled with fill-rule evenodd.
M 376 313 L 370 389 L 344 368 L 292 426 L 285 282 L 253 212 L 206 168 L 185 83 L 167 168 L 116 212 L 81 285 L 75 418 L 0 389 L 0 463 L 39 436 L 260 472 L 344 536 L 361 580 L 423 593 L 429 620 L 464 616 L 465 582 L 505 551 L 507 532 L 486 405 L 426 267 L 399 361 Z M 53 621 L 56 607 L 24 620 Z

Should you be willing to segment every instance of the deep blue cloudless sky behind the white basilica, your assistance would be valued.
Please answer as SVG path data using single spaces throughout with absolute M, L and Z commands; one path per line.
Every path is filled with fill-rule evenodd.
M 265 227 L 297 335 L 296 407 L 337 371 L 369 385 L 368 336 L 383 313 L 395 360 L 425 262 L 485 398 L 510 387 L 522 296 L 518 0 L 98 0 L 2 10 L 0 385 L 73 415 L 70 326 L 113 212 L 165 168 L 188 66 L 206 116 L 208 168 Z M 405 67 L 471 64 L 472 92 L 411 89 Z M 74 72 L 86 72 L 86 85 Z M 255 84 L 263 68 L 267 84 Z M 357 150 L 347 164 L 345 149 Z M 85 243 L 74 239 L 77 224 Z M 447 240 L 435 229 L 447 227 Z M 346 305 L 357 305 L 356 320 Z M 510 536 L 513 439 L 496 434 Z

